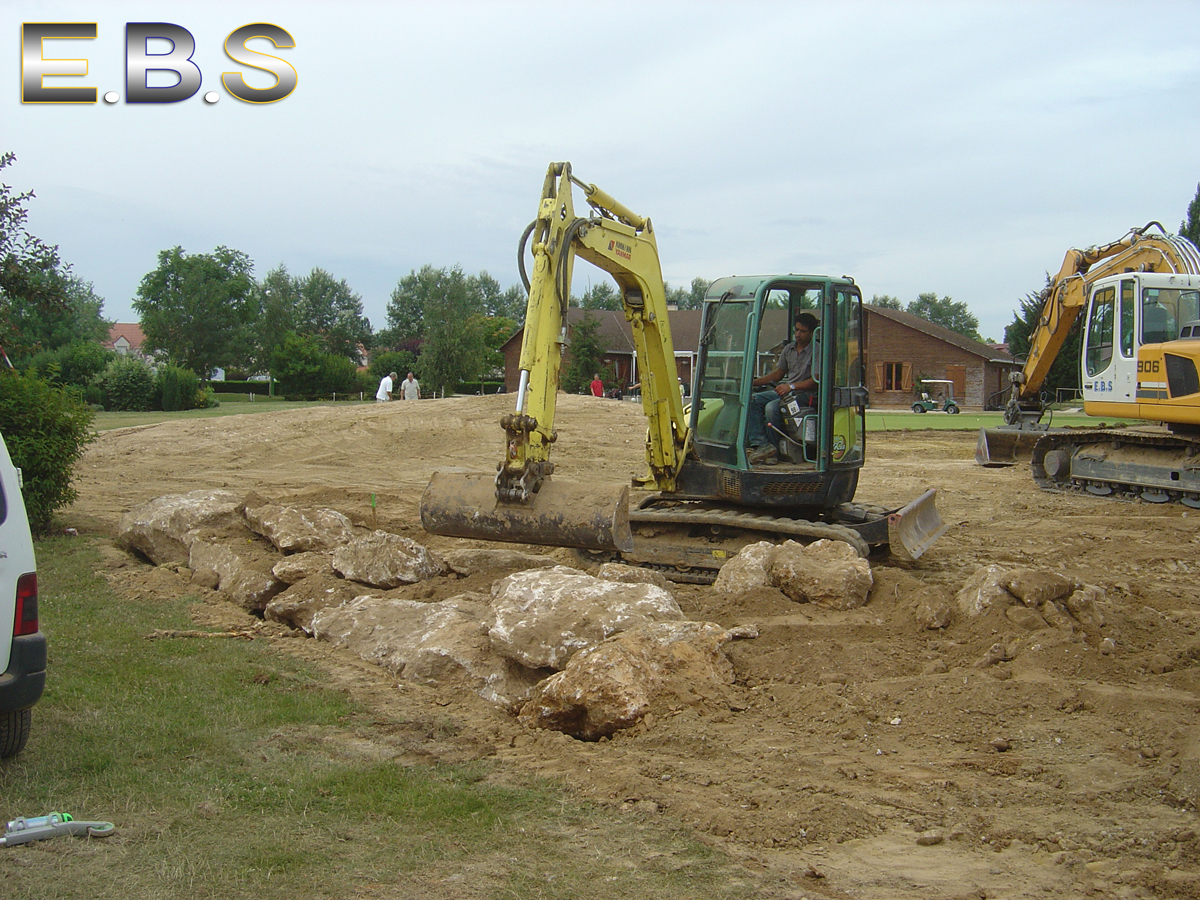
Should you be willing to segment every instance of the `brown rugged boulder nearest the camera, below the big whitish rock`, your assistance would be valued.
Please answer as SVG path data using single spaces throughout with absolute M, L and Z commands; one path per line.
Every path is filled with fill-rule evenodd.
M 653 623 L 576 653 L 539 684 L 520 720 L 596 740 L 648 712 L 728 703 L 733 665 L 722 648 L 737 635 L 701 622 Z

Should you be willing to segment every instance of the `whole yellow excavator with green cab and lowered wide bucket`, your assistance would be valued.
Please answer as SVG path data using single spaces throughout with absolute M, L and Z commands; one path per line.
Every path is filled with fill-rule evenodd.
M 572 186 L 592 215 L 575 214 Z M 533 274 L 526 277 L 532 236 Z M 563 480 L 557 439 L 559 365 L 576 257 L 617 282 L 641 374 L 647 473 L 632 485 Z M 862 295 L 851 278 L 776 275 L 720 278 L 704 299 L 690 404 L 680 397 L 666 292 L 650 220 L 552 163 L 538 216 L 520 241 L 529 292 L 515 412 L 506 414 L 496 475 L 438 472 L 421 499 L 426 530 L 461 538 L 577 547 L 710 582 L 758 540 L 832 538 L 859 554 L 890 547 L 916 559 L 944 530 L 935 491 L 902 506 L 856 504 L 864 458 Z M 751 382 L 772 372 L 802 310 L 817 317 L 811 402 L 786 394 L 772 430 L 776 464 L 745 449 Z M 630 487 L 635 499 L 630 499 Z

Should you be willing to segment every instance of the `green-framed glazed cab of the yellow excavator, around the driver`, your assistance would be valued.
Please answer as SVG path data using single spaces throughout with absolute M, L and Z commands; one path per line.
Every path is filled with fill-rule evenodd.
M 817 389 L 781 401 L 782 427 L 767 425 L 778 463 L 751 466 L 746 438 L 756 414 L 752 380 L 775 368 L 802 312 L 812 335 Z M 862 295 L 850 278 L 726 277 L 704 298 L 690 430 L 695 460 L 684 490 L 751 506 L 832 509 L 853 497 L 863 464 Z M 761 407 L 758 407 L 761 409 Z

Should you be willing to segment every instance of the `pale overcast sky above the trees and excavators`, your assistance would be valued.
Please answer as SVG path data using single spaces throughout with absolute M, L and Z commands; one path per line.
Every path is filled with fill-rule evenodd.
M 4 19 L 4 180 L 36 191 L 31 230 L 120 322 L 175 245 L 241 250 L 259 277 L 322 266 L 377 329 L 424 264 L 517 283 L 568 160 L 653 218 L 671 284 L 851 275 L 868 300 L 965 301 L 1001 340 L 1069 247 L 1175 232 L 1200 182 L 1198 2 L 92 0 Z M 46 84 L 119 101 L 23 104 L 23 22 L 97 23 L 48 42 L 88 74 Z M 126 103 L 137 22 L 196 38 L 190 100 Z M 298 73 L 274 103 L 221 82 L 270 86 L 223 50 L 258 22 L 295 41 L 251 43 Z M 607 277 L 575 271 L 576 293 Z

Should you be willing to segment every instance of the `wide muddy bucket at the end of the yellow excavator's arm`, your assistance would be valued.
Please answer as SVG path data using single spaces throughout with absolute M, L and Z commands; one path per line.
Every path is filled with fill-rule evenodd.
M 629 552 L 629 486 L 547 478 L 529 504 L 499 503 L 492 475 L 434 472 L 421 496 L 431 534 Z

